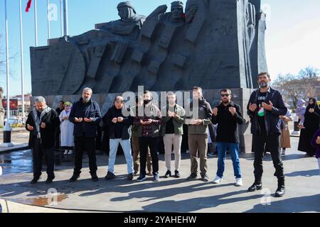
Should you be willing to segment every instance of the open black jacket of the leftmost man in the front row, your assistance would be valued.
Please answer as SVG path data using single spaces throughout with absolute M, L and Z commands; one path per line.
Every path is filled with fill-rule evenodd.
M 29 131 L 29 147 L 33 147 L 33 140 L 37 138 L 36 133 L 36 122 L 33 120 L 33 112 L 31 111 L 28 114 L 28 118 L 26 120 L 26 130 L 28 130 L 28 125 L 32 126 L 34 129 L 33 131 Z M 50 112 L 43 116 L 43 120 L 41 121 L 46 123 L 46 128 L 40 128 L 41 133 L 41 145 L 43 148 L 53 148 L 55 145 L 55 131 L 60 126 L 60 119 L 57 112 L 54 109 L 51 109 Z

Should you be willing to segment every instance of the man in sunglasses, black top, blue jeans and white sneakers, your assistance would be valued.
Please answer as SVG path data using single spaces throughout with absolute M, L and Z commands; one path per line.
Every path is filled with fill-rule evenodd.
M 213 109 L 212 123 L 217 124 L 216 145 L 218 149 L 218 172 L 213 184 L 223 181 L 225 170 L 225 156 L 227 149 L 230 151 L 233 160 L 233 171 L 235 173 L 235 186 L 242 186 L 242 176 L 239 160 L 239 134 L 238 124 L 244 124 L 242 111 L 239 105 L 231 101 L 232 94 L 230 89 L 223 89 L 221 94 L 221 104 Z

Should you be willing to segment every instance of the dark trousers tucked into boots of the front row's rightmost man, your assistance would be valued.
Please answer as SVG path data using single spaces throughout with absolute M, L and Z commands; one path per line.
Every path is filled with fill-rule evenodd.
M 284 177 L 283 163 L 280 154 L 280 135 L 279 134 L 254 134 L 253 139 L 253 151 L 255 152 L 255 162 L 253 166 L 255 167 L 255 178 L 261 180 L 262 177 L 262 158 L 264 155 L 265 148 L 270 151 L 272 162 L 274 165 L 274 176 L 278 178 Z

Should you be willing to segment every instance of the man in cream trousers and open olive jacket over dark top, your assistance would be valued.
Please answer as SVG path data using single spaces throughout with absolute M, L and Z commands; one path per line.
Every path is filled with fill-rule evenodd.
M 166 116 L 162 118 L 162 135 L 164 136 L 164 160 L 166 161 L 166 175 L 171 177 L 171 150 L 174 145 L 175 170 L 174 177 L 180 177 L 179 167 L 181 164 L 181 142 L 183 135 L 183 122 L 185 111 L 182 106 L 176 104 L 176 94 L 168 92 L 168 105 L 164 106 Z

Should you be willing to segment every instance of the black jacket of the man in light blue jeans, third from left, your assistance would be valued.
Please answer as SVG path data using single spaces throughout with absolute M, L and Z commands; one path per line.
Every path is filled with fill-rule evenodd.
M 130 109 L 128 109 L 130 111 Z M 122 117 L 123 121 L 112 123 L 112 118 Z M 115 131 L 118 130 L 117 127 L 122 128 L 122 140 L 129 140 L 132 135 L 131 126 L 134 121 L 133 116 L 124 116 L 121 111 L 117 111 L 115 106 L 110 107 L 110 109 L 107 111 L 107 114 L 103 116 L 102 118 L 103 123 L 105 123 L 105 126 L 107 126 L 107 129 L 109 131 L 110 139 L 115 138 Z

